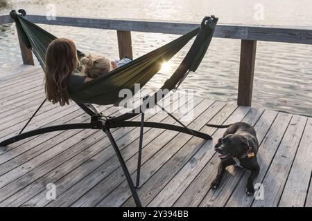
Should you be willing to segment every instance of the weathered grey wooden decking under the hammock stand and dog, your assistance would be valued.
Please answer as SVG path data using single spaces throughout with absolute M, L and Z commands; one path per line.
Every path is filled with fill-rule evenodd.
M 17 134 L 42 102 L 42 77 L 42 69 L 34 66 L 0 70 L 0 140 Z M 312 206 L 312 118 L 199 97 L 193 103 L 195 117 L 189 126 L 214 140 L 145 128 L 138 191 L 144 206 Z M 99 108 L 105 115 L 118 111 L 115 106 Z M 174 123 L 165 113 L 146 117 Z M 47 102 L 26 131 L 88 120 L 74 104 L 60 107 Z M 257 131 L 261 172 L 256 182 L 263 184 L 264 200 L 245 195 L 249 172 L 232 166 L 218 190 L 209 188 L 219 162 L 213 146 L 225 129 L 204 125 L 238 121 L 253 124 Z M 139 128 L 119 128 L 112 134 L 135 178 Z M 49 183 L 56 185 L 56 200 L 46 199 Z M 61 131 L 0 147 L 0 206 L 134 205 L 101 131 Z

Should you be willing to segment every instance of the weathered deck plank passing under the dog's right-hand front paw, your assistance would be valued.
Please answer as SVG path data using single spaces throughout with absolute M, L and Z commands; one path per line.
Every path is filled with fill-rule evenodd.
M 281 144 L 281 140 L 286 133 L 286 129 L 288 128 L 288 124 L 290 121 L 290 114 L 279 113 L 263 142 L 260 144 L 259 151 L 257 153 L 257 160 L 260 165 L 260 173 L 258 177 L 254 180 L 254 184 L 262 183 L 263 177 L 266 175 L 266 172 L 270 167 L 272 158 L 274 157 L 279 145 Z M 239 180 L 239 183 L 234 188 L 234 191 L 225 206 L 250 206 L 252 204 L 254 198 L 248 197 L 248 195 L 246 195 L 245 193 L 246 183 L 249 175 L 249 173 L 243 174 L 243 177 L 241 178 L 241 180 Z

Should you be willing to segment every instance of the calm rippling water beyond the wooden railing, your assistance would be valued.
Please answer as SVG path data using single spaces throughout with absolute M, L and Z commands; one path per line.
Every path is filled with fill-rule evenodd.
M 46 15 L 47 3 L 53 2 L 58 16 L 157 19 L 200 23 L 214 14 L 219 23 L 266 24 L 312 27 L 311 0 L 157 0 L 157 1 L 9 1 L 11 8 L 24 8 L 29 14 Z M 260 5 L 259 5 L 260 4 Z M 259 9 L 263 14 L 260 14 Z M 255 16 L 256 15 L 256 16 Z M 58 37 L 74 39 L 83 52 L 118 57 L 116 32 L 40 25 Z M 132 32 L 134 56 L 166 44 L 175 35 Z M 205 59 L 181 88 L 192 88 L 196 95 L 236 102 L 239 73 L 239 40 L 213 39 Z M 171 61 L 171 68 L 156 75 L 150 85 L 161 86 L 183 59 L 184 48 Z M 21 64 L 15 26 L 0 26 L 0 67 Z M 252 106 L 312 115 L 312 46 L 259 41 L 254 73 Z

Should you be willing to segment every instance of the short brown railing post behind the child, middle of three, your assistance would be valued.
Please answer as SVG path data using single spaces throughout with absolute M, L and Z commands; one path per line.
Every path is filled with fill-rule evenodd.
M 124 57 L 128 57 L 129 59 L 133 59 L 131 32 L 130 31 L 117 30 L 117 38 L 118 38 L 118 48 L 119 48 L 120 59 L 123 59 Z

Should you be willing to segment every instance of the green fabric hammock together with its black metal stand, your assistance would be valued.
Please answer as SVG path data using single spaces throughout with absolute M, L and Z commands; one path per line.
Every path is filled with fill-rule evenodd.
M 24 44 L 33 50 L 35 57 L 37 57 L 40 62 L 40 66 L 44 68 L 45 66 L 45 53 L 46 48 L 48 48 L 51 41 L 56 39 L 54 35 L 51 35 L 46 30 L 40 28 L 35 25 L 31 21 L 25 19 L 26 12 L 24 10 L 18 10 L 17 13 L 15 10 L 10 12 L 10 16 L 15 20 L 17 31 L 21 36 Z M 193 135 L 196 137 L 200 137 L 205 140 L 211 140 L 211 136 L 205 133 L 201 133 L 200 131 L 194 131 L 190 128 L 187 128 L 182 122 L 180 122 L 177 118 L 175 118 L 171 113 L 168 113 L 163 107 L 161 107 L 168 115 L 173 117 L 176 122 L 178 122 L 181 126 L 177 126 L 175 124 L 164 124 L 159 122 L 145 122 L 144 121 L 144 111 L 142 110 L 142 106 L 153 108 L 162 99 L 168 91 L 177 88 L 182 81 L 187 77 L 189 71 L 195 71 L 202 58 L 205 56 L 207 48 L 210 44 L 212 35 L 214 33 L 214 28 L 216 27 L 216 23 L 218 18 L 211 16 L 205 17 L 202 20 L 202 23 L 199 28 L 192 30 L 191 32 L 178 37 L 174 41 L 149 52 L 146 55 L 143 55 L 120 68 L 116 68 L 112 70 L 110 73 L 107 73 L 101 77 L 97 77 L 92 81 L 84 83 L 80 86 L 76 86 L 74 88 L 69 88 L 69 94 L 71 95 L 71 99 L 80 106 L 87 114 L 91 116 L 91 122 L 89 123 L 80 123 L 80 124 L 64 124 L 64 125 L 56 125 L 56 126 L 47 126 L 44 128 L 38 128 L 33 131 L 28 131 L 26 133 L 21 133 L 24 131 L 24 128 L 28 125 L 28 123 L 33 119 L 37 111 L 41 108 L 46 100 L 37 108 L 37 111 L 33 114 L 33 116 L 28 120 L 24 128 L 21 129 L 19 135 L 15 135 L 7 140 L 3 140 L 0 142 L 0 146 L 7 146 L 19 140 L 23 140 L 27 137 L 31 137 L 34 135 L 40 135 L 43 133 L 49 133 L 53 131 L 64 131 L 70 129 L 101 129 L 106 133 L 109 138 L 112 147 L 118 157 L 118 160 L 121 164 L 121 168 L 125 174 L 125 179 L 128 182 L 130 187 L 130 191 L 135 200 L 137 206 L 141 206 L 141 202 L 139 200 L 139 196 L 137 195 L 136 187 L 139 187 L 139 174 L 141 168 L 141 151 L 142 151 L 142 142 L 143 142 L 143 133 L 144 127 L 153 127 L 153 128 L 163 128 L 171 131 L 177 131 L 181 133 L 187 133 L 189 135 Z M 189 42 L 193 37 L 196 36 L 196 39 L 193 41 L 189 52 L 184 57 L 180 66 L 177 67 L 177 70 L 171 75 L 169 79 L 166 80 L 164 85 L 159 88 L 157 93 L 154 95 L 147 97 L 144 99 L 144 104 L 133 109 L 129 113 L 125 113 L 123 115 L 117 117 L 105 117 L 103 116 L 95 106 L 89 106 L 88 104 L 116 104 L 122 98 L 119 97 L 119 90 L 121 89 L 130 89 L 132 93 L 135 91 L 135 84 L 140 84 L 143 87 L 157 72 L 160 70 L 162 63 L 164 61 L 168 61 L 173 57 L 177 52 L 183 48 L 187 42 Z M 78 57 L 83 57 L 83 52 L 77 50 Z M 78 70 L 76 70 L 78 72 Z M 168 90 L 163 90 L 168 89 Z M 166 91 L 166 93 L 164 93 Z M 159 96 L 159 92 L 162 96 Z M 158 95 L 158 96 L 157 96 Z M 146 105 L 149 104 L 149 105 Z M 150 105 L 151 104 L 151 105 Z M 158 104 L 157 104 L 158 105 Z M 141 122 L 138 121 L 129 121 L 132 117 L 141 114 Z M 114 138 L 112 137 L 112 133 L 110 133 L 110 128 L 118 128 L 118 127 L 129 127 L 136 126 L 141 127 L 140 131 L 140 139 L 139 139 L 139 151 L 138 151 L 138 164 L 137 164 L 137 184 L 136 187 L 132 182 L 132 178 L 128 171 L 127 166 L 123 160 L 123 157 L 119 151 L 118 146 Z

